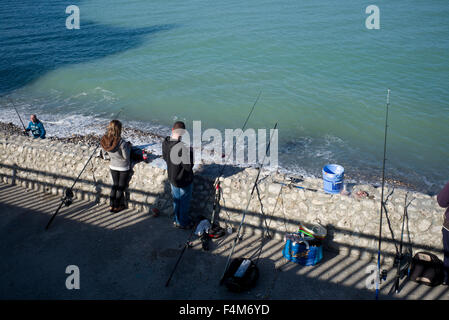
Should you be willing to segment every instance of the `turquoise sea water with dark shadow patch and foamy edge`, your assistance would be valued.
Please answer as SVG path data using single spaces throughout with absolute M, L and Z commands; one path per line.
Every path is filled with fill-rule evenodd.
M 49 135 L 89 131 L 124 108 L 127 125 L 166 132 L 279 124 L 283 169 L 327 163 L 380 182 L 387 171 L 435 192 L 449 180 L 449 2 L 0 0 L 2 121 L 38 113 Z M 76 4 L 81 29 L 67 30 Z M 365 28 L 368 5 L 380 30 Z

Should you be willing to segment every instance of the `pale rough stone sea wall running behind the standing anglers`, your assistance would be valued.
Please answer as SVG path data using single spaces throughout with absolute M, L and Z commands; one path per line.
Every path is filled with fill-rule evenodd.
M 73 184 L 95 147 L 25 136 L 0 137 L 0 179 L 26 188 L 63 194 Z M 213 170 L 214 169 L 214 170 Z M 167 174 L 152 163 L 138 163 L 129 186 L 129 205 L 143 211 L 158 208 L 171 214 Z M 210 217 L 217 166 L 200 165 L 196 170 L 192 215 Z M 248 204 L 256 169 L 229 167 L 221 181 L 220 224 L 237 229 Z M 215 175 L 214 175 L 215 174 Z M 76 199 L 107 203 L 111 185 L 108 161 L 94 157 L 74 187 Z M 298 188 L 298 187 L 303 187 Z M 320 223 L 327 228 L 326 248 L 362 259 L 377 256 L 381 190 L 371 185 L 347 185 L 349 195 L 330 195 L 322 180 L 303 178 L 294 186 L 281 174 L 263 172 L 245 217 L 245 234 L 260 234 L 265 229 L 279 239 L 297 230 L 300 222 Z M 405 200 L 407 216 L 404 242 L 411 241 L 413 252 L 431 251 L 442 257 L 441 228 L 444 209 L 436 197 L 388 187 L 382 235 L 382 256 L 388 261 L 399 244 Z M 75 201 L 76 201 L 75 199 Z M 407 233 L 409 231 L 409 233 Z M 409 235 L 409 236 L 408 236 Z

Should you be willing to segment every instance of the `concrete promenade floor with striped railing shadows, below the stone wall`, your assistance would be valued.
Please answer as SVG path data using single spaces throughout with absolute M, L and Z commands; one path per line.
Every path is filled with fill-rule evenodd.
M 166 214 L 126 210 L 110 213 L 94 202 L 76 200 L 45 226 L 59 197 L 0 184 L 0 299 L 374 299 L 366 289 L 373 261 L 325 252 L 313 267 L 287 262 L 283 241 L 246 234 L 234 257 L 260 252 L 260 280 L 250 292 L 234 294 L 218 282 L 233 235 L 203 251 L 195 237 L 169 287 L 165 282 L 190 232 L 176 229 Z M 260 251 L 261 250 L 261 251 Z M 65 286 L 66 267 L 80 270 L 80 289 Z M 391 266 L 384 266 L 391 268 Z M 381 299 L 449 299 L 449 288 L 406 282 L 389 295 L 390 271 Z

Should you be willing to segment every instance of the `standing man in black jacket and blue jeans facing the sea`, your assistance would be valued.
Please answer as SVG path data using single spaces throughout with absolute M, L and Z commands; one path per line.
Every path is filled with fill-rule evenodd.
M 189 216 L 193 189 L 193 150 L 181 142 L 185 128 L 183 122 L 175 122 L 171 136 L 162 143 L 162 157 L 167 163 L 173 196 L 173 224 L 178 228 L 190 229 L 193 227 Z

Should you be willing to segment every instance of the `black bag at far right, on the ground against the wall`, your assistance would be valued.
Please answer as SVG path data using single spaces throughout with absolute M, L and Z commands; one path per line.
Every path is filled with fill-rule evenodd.
M 410 268 L 410 280 L 430 287 L 443 283 L 443 262 L 430 252 L 418 252 L 414 255 Z

